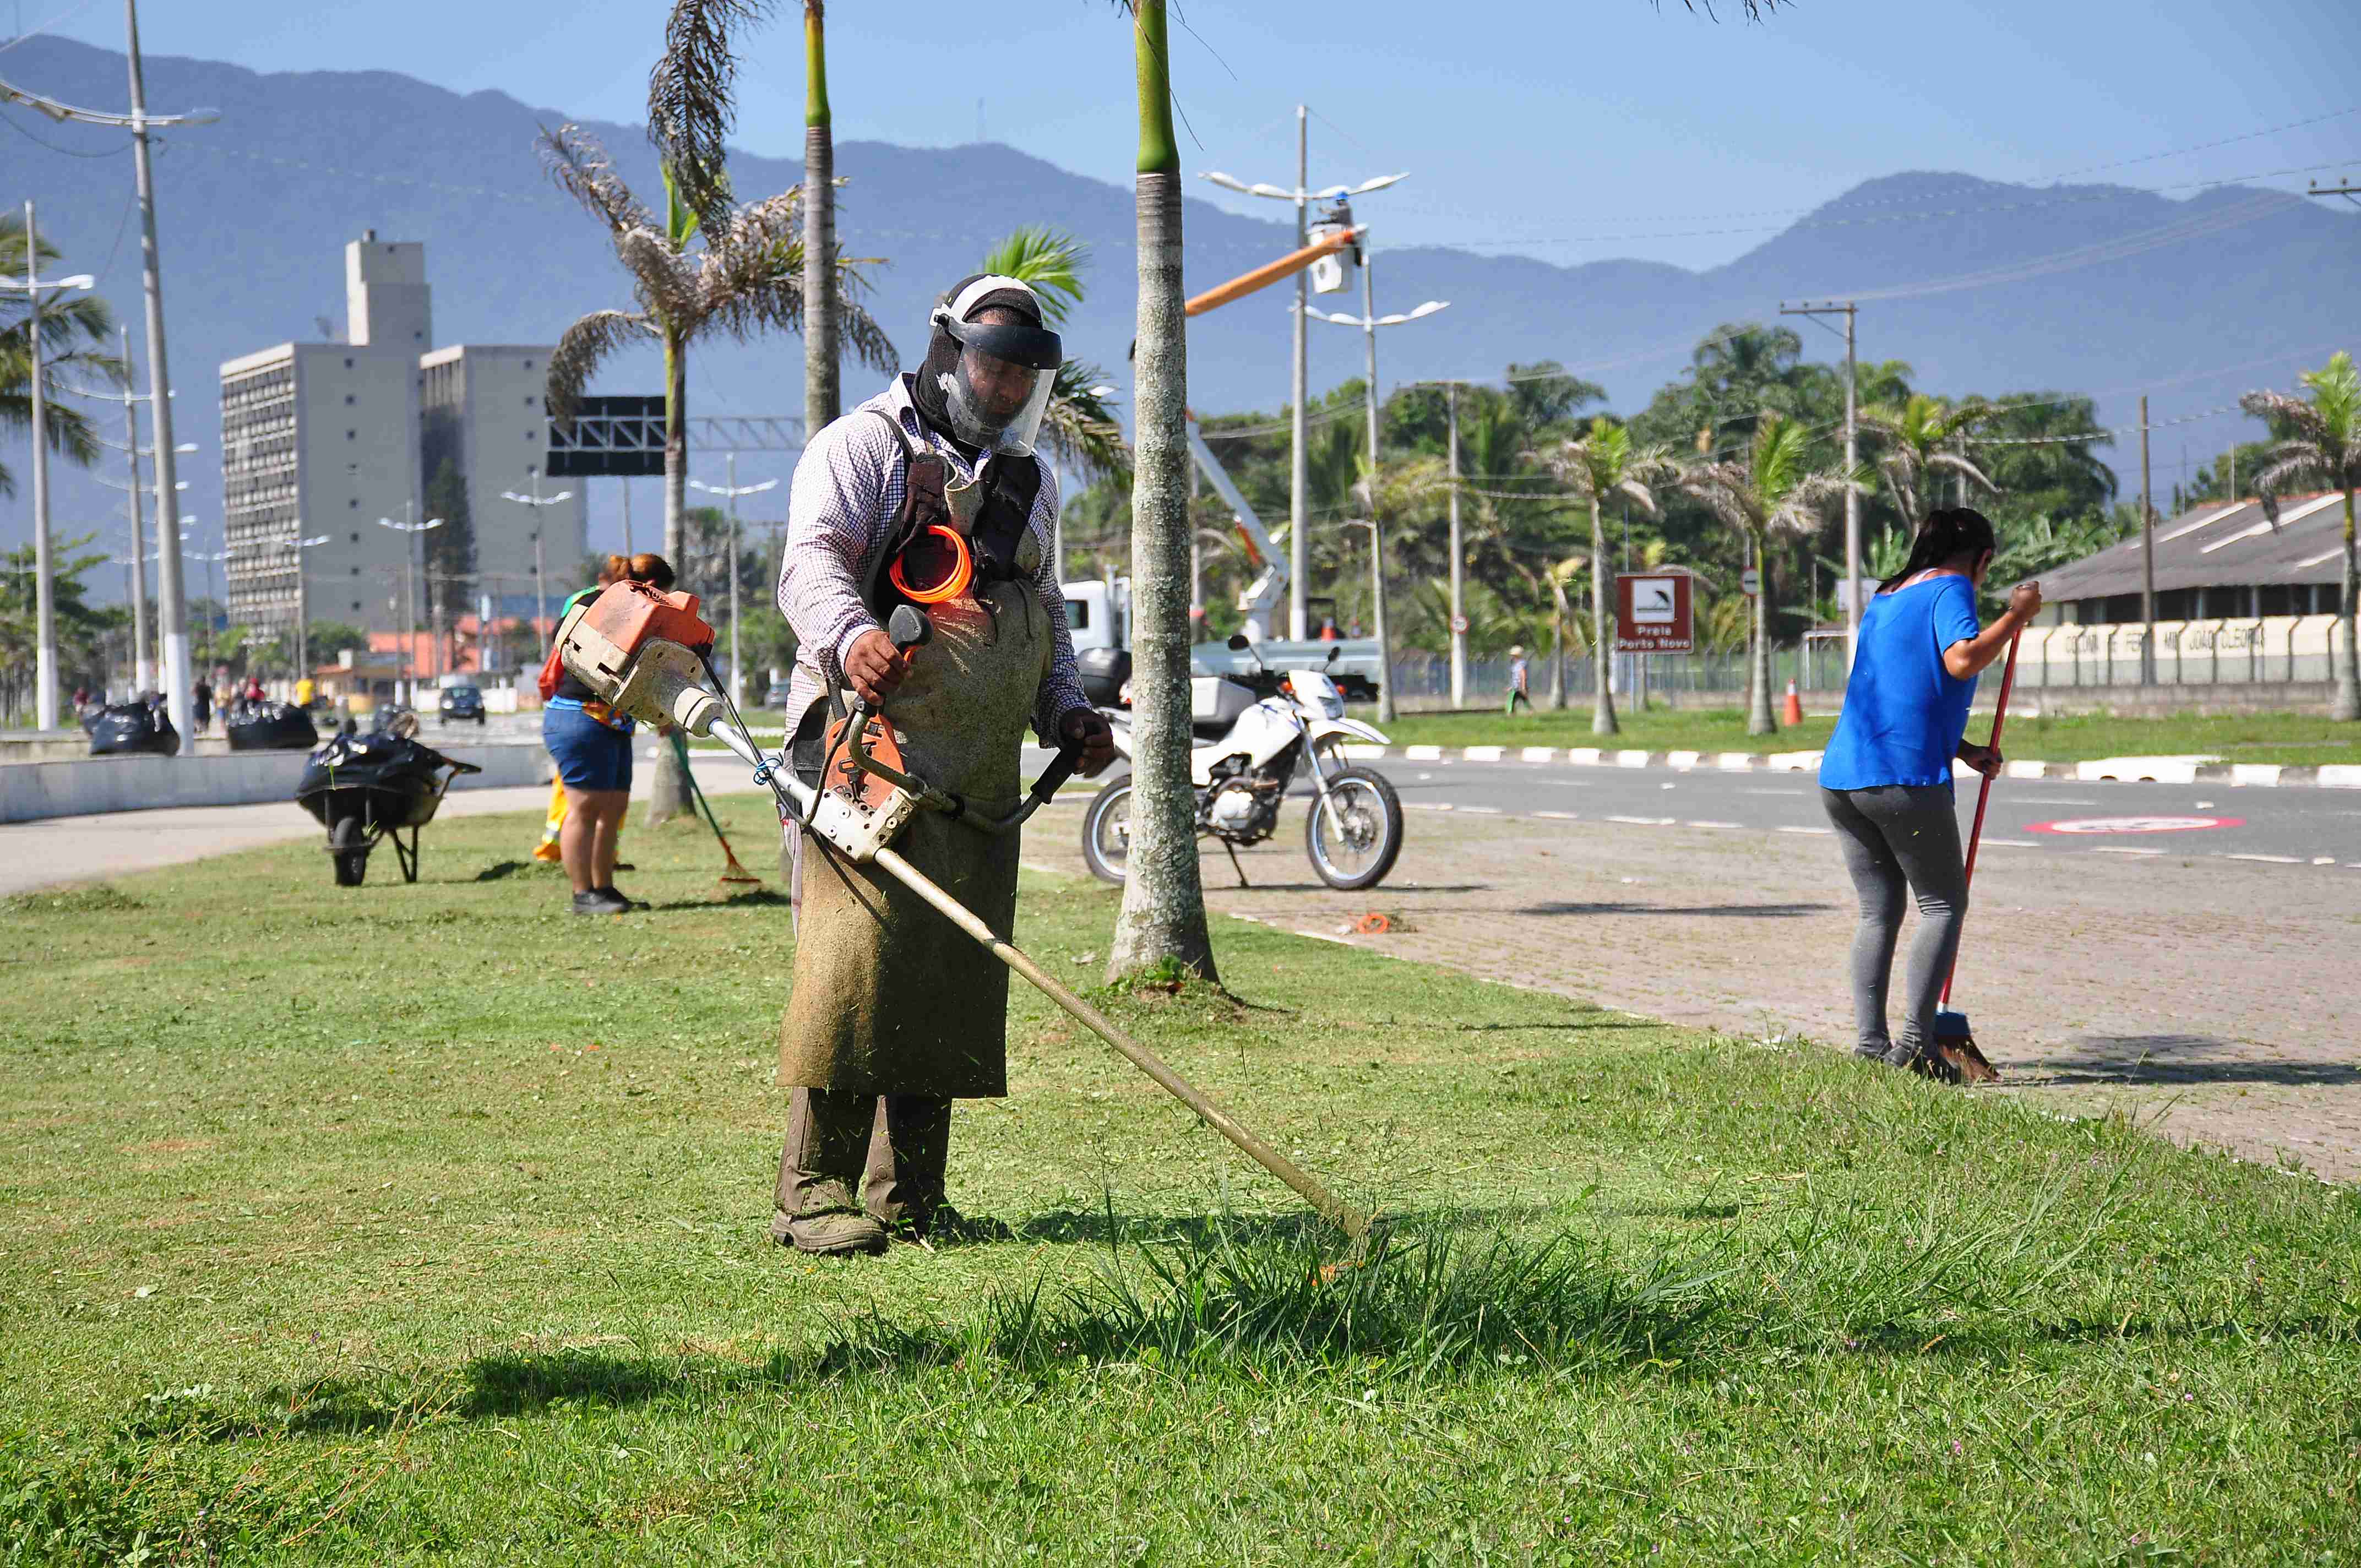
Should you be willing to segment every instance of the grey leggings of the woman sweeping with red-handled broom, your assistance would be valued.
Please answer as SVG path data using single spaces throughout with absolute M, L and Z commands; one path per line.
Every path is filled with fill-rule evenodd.
M 1820 805 L 1837 824 L 1844 869 L 1860 895 L 1853 930 L 1853 1023 L 1863 1056 L 1894 1048 L 1886 1034 L 1886 987 L 1894 942 L 1903 930 L 1903 895 L 1915 893 L 1919 928 L 1910 940 L 1908 1015 L 1901 1048 L 1917 1053 L 1934 1037 L 1934 1011 L 1960 952 L 1967 919 L 1967 871 L 1960 864 L 1960 817 L 1945 784 L 1886 784 L 1882 789 L 1823 789 Z

